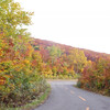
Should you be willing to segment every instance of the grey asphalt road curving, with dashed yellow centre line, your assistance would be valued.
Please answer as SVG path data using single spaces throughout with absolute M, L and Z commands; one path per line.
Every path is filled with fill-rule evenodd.
M 110 97 L 73 87 L 76 81 L 50 81 L 48 99 L 35 110 L 110 110 Z

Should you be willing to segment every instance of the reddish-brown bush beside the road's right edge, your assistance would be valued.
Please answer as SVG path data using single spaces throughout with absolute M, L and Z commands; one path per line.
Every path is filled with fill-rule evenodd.
M 110 59 L 98 58 L 84 68 L 78 87 L 110 96 Z

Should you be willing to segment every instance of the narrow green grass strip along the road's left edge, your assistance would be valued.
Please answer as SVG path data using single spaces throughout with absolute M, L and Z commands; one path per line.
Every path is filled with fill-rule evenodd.
M 18 108 L 8 108 L 8 107 L 4 107 L 3 103 L 0 103 L 0 110 L 33 110 L 40 105 L 44 103 L 46 99 L 48 98 L 50 94 L 51 94 L 51 86 L 47 85 L 47 89 L 44 92 L 42 92 L 38 96 L 38 98 L 36 98 L 35 100 L 32 100 L 30 103 L 26 103 Z

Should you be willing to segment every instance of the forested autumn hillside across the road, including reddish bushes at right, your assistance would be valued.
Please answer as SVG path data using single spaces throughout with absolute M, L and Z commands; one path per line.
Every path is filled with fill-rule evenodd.
M 110 95 L 110 55 L 32 38 L 46 78 L 78 78 L 78 87 Z

